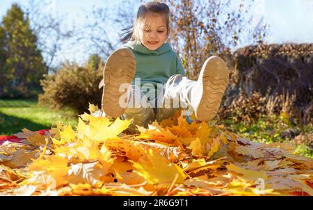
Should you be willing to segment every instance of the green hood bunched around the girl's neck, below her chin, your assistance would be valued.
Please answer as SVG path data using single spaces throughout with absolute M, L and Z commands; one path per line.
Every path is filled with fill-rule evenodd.
M 129 47 L 129 48 L 133 49 L 135 52 L 138 52 L 141 54 L 155 55 L 155 56 L 165 54 L 166 52 L 172 50 L 172 47 L 170 47 L 170 44 L 168 42 L 165 42 L 157 50 L 147 49 L 147 47 L 141 45 L 141 42 L 139 42 L 139 41 L 129 41 L 125 44 L 125 47 Z

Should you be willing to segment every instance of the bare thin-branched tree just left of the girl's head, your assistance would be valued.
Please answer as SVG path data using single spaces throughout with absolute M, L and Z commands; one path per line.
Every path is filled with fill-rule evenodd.
M 122 29 L 134 21 L 138 2 L 103 0 L 103 4 L 86 11 L 86 23 L 75 34 L 76 42 L 86 46 L 85 54 L 97 54 L 106 60 L 112 51 L 122 47 L 119 40 Z

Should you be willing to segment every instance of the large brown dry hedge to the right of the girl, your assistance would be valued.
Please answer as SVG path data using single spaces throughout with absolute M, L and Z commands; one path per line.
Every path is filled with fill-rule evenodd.
M 257 97 L 253 95 L 258 92 L 259 97 L 266 97 L 266 104 L 259 102 L 260 106 L 264 106 L 259 110 L 266 110 L 264 112 L 267 115 L 288 113 L 289 118 L 296 119 L 298 124 L 313 122 L 312 43 L 250 45 L 237 49 L 232 59 L 234 65 L 231 69 L 230 86 L 225 93 L 225 107 L 232 104 L 232 107 L 240 108 L 235 104 L 241 103 L 244 110 L 245 106 L 255 103 Z M 243 95 L 252 97 L 252 102 L 248 102 L 248 99 L 244 101 L 250 105 L 241 102 Z M 232 103 L 233 100 L 235 102 Z M 226 112 L 231 113 L 227 110 Z M 254 116 L 253 110 L 246 115 L 247 118 Z M 239 119 L 244 120 L 246 117 Z

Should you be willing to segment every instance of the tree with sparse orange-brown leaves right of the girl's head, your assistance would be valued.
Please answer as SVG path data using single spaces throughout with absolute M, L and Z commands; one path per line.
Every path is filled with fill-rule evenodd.
M 225 58 L 242 42 L 262 42 L 268 26 L 262 19 L 250 29 L 248 12 L 254 0 L 241 0 L 234 10 L 231 1 L 166 0 L 171 9 L 170 42 L 182 58 L 188 77 L 196 79 L 204 60 L 218 55 Z

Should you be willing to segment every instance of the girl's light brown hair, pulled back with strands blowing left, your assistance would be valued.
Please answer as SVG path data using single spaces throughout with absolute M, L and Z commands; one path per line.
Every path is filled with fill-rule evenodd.
M 128 41 L 139 40 L 139 31 L 141 29 L 142 24 L 145 23 L 145 16 L 149 13 L 156 13 L 159 15 L 164 15 L 166 18 L 166 28 L 169 31 L 170 29 L 170 8 L 166 5 L 166 3 L 161 3 L 159 1 L 150 1 L 138 8 L 136 20 L 134 26 L 129 26 L 122 31 L 126 31 L 123 33 L 125 35 L 120 41 L 126 43 Z

